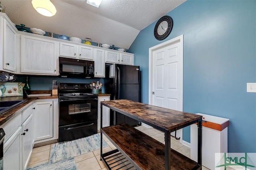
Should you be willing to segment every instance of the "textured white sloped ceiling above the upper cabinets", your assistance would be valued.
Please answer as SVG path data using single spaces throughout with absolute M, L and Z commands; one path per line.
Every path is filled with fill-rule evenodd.
M 129 49 L 140 30 L 186 0 L 102 0 L 99 8 L 86 0 L 51 0 L 57 10 L 52 17 L 36 12 L 31 0 L 0 1 L 16 25 Z

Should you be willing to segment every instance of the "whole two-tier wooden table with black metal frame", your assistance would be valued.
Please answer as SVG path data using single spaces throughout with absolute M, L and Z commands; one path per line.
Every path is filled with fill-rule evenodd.
M 101 124 L 100 158 L 108 169 L 111 168 L 106 159 L 117 153 L 124 155 L 137 170 L 202 169 L 202 116 L 122 99 L 102 101 L 101 119 L 102 105 L 163 131 L 165 138 L 165 144 L 162 144 L 125 123 L 105 128 Z M 170 133 L 194 123 L 198 125 L 198 162 L 170 147 Z M 102 152 L 102 134 L 116 146 L 116 150 Z

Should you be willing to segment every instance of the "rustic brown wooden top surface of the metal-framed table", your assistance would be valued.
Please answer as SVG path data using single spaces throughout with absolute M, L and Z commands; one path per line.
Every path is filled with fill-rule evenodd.
M 131 115 L 138 121 L 146 121 L 152 125 L 172 130 L 182 128 L 183 125 L 202 120 L 202 116 L 153 105 L 147 105 L 126 99 L 102 101 L 102 105 L 115 109 L 120 113 Z

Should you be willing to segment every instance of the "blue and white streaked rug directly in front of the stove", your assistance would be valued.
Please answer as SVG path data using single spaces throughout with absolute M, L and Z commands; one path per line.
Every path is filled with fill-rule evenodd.
M 102 139 L 102 146 L 108 146 L 104 139 Z M 68 142 L 56 143 L 52 145 L 49 162 L 55 163 L 98 149 L 100 149 L 100 134 L 94 134 L 92 136 Z

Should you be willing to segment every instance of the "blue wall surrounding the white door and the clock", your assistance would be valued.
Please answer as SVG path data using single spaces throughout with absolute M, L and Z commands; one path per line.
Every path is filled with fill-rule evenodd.
M 184 35 L 183 111 L 230 119 L 228 152 L 256 152 L 256 1 L 188 0 L 167 14 L 172 32 L 154 38 L 157 21 L 130 47 L 142 72 L 142 102 L 148 103 L 148 48 Z M 183 138 L 190 142 L 190 128 Z

